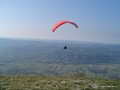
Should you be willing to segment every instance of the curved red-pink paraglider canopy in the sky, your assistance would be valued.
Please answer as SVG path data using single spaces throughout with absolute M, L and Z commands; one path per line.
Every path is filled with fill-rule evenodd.
M 56 30 L 59 26 L 65 24 L 65 23 L 70 23 L 70 24 L 74 25 L 76 28 L 78 28 L 78 25 L 77 25 L 76 23 L 71 22 L 71 21 L 68 21 L 68 20 L 62 20 L 62 21 L 58 21 L 57 23 L 55 23 L 55 24 L 53 25 L 52 31 L 55 32 L 55 30 Z

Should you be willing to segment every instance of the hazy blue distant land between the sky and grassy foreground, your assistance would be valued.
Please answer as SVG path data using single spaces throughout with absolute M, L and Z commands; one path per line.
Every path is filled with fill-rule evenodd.
M 63 47 L 67 45 L 68 49 Z M 0 39 L 0 74 L 120 77 L 120 45 L 57 40 Z

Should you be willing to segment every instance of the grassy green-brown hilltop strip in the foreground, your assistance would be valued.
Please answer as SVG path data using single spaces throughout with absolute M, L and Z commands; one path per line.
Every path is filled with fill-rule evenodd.
M 84 76 L 0 76 L 0 90 L 120 90 L 120 80 Z

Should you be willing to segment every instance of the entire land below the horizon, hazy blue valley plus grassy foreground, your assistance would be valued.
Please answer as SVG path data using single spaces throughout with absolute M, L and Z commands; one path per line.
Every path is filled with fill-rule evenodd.
M 119 45 L 15 39 L 0 43 L 1 90 L 120 89 Z M 68 50 L 63 48 L 66 43 Z

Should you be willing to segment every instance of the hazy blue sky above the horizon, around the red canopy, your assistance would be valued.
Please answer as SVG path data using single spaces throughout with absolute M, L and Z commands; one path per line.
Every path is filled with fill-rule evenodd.
M 120 44 L 120 0 L 0 0 L 0 37 Z

